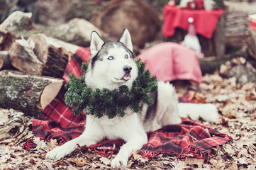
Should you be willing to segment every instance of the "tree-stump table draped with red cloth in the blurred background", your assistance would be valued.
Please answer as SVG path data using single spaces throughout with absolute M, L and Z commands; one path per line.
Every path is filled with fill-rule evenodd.
M 194 18 L 196 34 L 204 56 L 223 57 L 226 51 L 226 11 L 224 10 L 189 10 L 165 5 L 162 33 L 166 40 L 172 42 L 184 40 L 189 17 Z

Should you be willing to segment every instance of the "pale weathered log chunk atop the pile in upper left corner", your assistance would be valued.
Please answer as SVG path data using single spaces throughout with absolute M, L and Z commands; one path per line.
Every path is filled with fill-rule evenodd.
M 15 11 L 1 23 L 0 30 L 20 35 L 23 30 L 33 28 L 30 18 L 32 13 L 23 13 Z

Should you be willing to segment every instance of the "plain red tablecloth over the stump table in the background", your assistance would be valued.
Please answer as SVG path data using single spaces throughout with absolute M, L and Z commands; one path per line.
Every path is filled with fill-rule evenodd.
M 196 33 L 205 38 L 211 38 L 218 24 L 218 18 L 221 17 L 223 10 L 189 10 L 176 8 L 175 6 L 164 6 L 164 24 L 162 34 L 168 38 L 175 33 L 175 28 L 187 30 L 189 26 L 188 18 L 194 18 Z

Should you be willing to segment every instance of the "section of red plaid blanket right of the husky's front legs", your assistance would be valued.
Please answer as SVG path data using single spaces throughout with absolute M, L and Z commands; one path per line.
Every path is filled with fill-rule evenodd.
M 155 132 L 148 132 L 148 137 L 148 143 L 140 149 L 146 157 L 148 153 L 162 153 L 179 156 L 179 159 L 184 159 L 188 154 L 208 158 L 211 147 L 232 140 L 232 137 L 188 118 L 182 118 L 179 125 L 167 125 Z

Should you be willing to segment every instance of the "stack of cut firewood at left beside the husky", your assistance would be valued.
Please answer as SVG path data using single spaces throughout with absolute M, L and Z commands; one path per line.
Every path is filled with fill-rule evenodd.
M 0 25 L 0 107 L 36 116 L 60 91 L 66 64 L 78 46 L 43 33 L 32 34 L 25 40 L 22 33 L 33 28 L 30 17 L 30 13 L 16 11 Z M 84 27 L 74 36 L 89 42 L 89 32 L 96 28 L 82 19 L 72 22 L 77 30 Z

